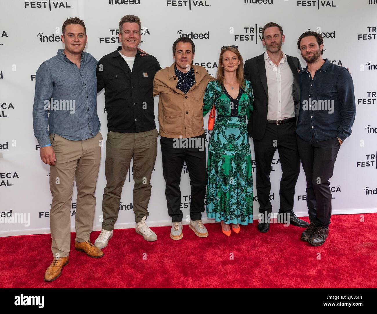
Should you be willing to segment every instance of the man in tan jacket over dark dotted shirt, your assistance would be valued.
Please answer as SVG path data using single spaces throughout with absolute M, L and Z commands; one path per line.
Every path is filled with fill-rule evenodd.
M 188 37 L 173 44 L 175 62 L 159 70 L 153 81 L 153 96 L 159 95 L 158 122 L 161 136 L 162 171 L 166 200 L 172 217 L 170 238 L 182 239 L 181 173 L 186 162 L 191 183 L 190 229 L 201 238 L 208 236 L 202 223 L 207 185 L 203 97 L 213 81 L 201 66 L 194 66 L 195 44 Z

